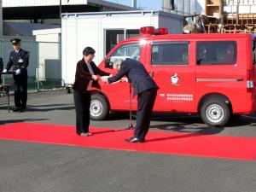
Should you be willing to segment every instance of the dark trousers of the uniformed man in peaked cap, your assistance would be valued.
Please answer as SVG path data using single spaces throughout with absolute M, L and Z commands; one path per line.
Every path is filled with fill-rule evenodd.
M 15 107 L 26 109 L 27 101 L 27 78 L 26 77 L 15 77 Z

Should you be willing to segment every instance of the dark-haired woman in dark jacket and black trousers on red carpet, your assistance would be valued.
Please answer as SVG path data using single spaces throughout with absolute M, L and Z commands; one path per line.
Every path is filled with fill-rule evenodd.
M 90 125 L 90 88 L 101 89 L 97 75 L 108 76 L 92 61 L 95 50 L 86 47 L 83 50 L 83 59 L 77 63 L 75 82 L 73 84 L 73 99 L 76 111 L 76 128 L 79 136 L 91 136 Z

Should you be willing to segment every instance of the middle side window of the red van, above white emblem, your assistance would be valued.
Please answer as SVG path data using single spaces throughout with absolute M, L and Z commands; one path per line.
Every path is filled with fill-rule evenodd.
M 188 65 L 189 42 L 153 43 L 152 65 Z

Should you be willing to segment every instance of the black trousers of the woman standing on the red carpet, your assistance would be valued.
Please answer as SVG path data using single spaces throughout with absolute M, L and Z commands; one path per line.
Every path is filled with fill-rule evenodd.
M 90 125 L 90 91 L 84 93 L 73 90 L 76 111 L 77 134 L 89 132 Z

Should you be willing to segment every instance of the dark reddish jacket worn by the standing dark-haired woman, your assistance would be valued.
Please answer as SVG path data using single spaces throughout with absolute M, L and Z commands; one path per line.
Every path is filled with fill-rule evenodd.
M 95 75 L 100 75 L 100 76 L 110 75 L 110 73 L 105 73 L 101 69 L 96 67 L 96 64 L 93 61 L 90 62 L 90 67 Z M 92 77 L 92 74 L 90 74 L 89 69 L 88 69 L 84 59 L 82 59 L 77 64 L 77 70 L 76 70 L 75 82 L 73 84 L 73 90 L 77 90 L 82 93 L 86 92 L 88 84 L 89 84 L 90 80 L 92 80 L 91 77 Z M 101 89 L 100 84 L 98 83 L 98 81 L 95 81 L 95 80 L 92 81 L 91 86 L 96 87 L 97 89 Z

